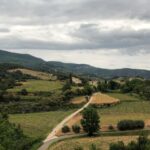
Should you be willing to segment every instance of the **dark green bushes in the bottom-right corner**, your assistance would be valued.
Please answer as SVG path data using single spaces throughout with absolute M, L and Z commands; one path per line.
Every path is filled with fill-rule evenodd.
M 131 141 L 129 144 L 125 145 L 123 142 L 110 144 L 109 150 L 149 150 L 150 140 L 147 136 L 141 135 L 138 141 Z

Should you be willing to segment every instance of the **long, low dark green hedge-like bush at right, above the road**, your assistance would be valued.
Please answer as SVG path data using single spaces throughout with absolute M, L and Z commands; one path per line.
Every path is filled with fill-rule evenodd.
M 143 129 L 145 126 L 144 121 L 142 120 L 122 120 L 117 124 L 117 128 L 121 131 L 124 130 L 135 130 L 135 129 Z

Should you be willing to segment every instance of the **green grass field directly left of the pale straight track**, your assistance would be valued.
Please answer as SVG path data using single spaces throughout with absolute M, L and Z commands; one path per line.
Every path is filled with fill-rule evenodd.
M 10 115 L 10 121 L 15 124 L 20 124 L 24 133 L 30 137 L 45 138 L 61 120 L 73 111 L 15 114 Z

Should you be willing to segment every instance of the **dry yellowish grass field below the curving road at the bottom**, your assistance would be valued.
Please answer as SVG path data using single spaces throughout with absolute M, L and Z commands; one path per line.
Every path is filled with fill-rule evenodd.
M 89 150 L 91 144 L 95 144 L 97 148 L 108 150 L 109 144 L 117 141 L 124 141 L 126 144 L 132 140 L 136 140 L 137 136 L 100 136 L 100 137 L 82 137 L 72 138 L 60 141 L 52 145 L 49 150 L 74 150 L 77 147 L 83 147 L 84 150 Z

